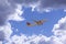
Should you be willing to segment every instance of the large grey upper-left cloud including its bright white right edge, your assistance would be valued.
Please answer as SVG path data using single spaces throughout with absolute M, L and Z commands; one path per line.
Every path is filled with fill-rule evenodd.
M 0 0 L 0 25 L 6 24 L 8 19 L 16 21 L 24 20 L 20 18 L 20 14 L 22 14 L 21 4 L 13 1 L 14 0 Z

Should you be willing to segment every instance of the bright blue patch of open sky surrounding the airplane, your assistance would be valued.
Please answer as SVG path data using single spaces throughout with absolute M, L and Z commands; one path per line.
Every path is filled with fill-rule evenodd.
M 14 29 L 19 29 L 19 32 L 15 32 L 15 34 L 23 33 L 26 35 L 33 35 L 33 34 L 43 34 L 46 36 L 51 36 L 53 35 L 53 26 L 55 23 L 57 23 L 57 21 L 61 18 L 64 18 L 66 15 L 66 12 L 64 12 L 63 10 L 53 10 L 51 12 L 37 12 L 37 11 L 33 11 L 31 10 L 31 8 L 23 8 L 23 18 L 25 19 L 22 22 L 14 22 L 12 21 L 11 24 Z M 46 19 L 47 22 L 45 22 L 43 25 L 35 25 L 35 26 L 28 26 L 26 22 L 34 22 L 33 20 L 43 20 Z

